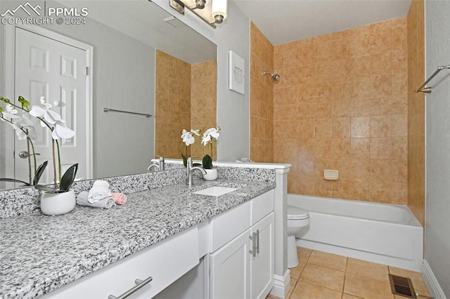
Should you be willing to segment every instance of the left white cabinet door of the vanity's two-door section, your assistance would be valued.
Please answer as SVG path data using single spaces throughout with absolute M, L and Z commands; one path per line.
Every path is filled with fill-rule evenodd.
M 211 298 L 250 298 L 250 229 L 211 254 Z

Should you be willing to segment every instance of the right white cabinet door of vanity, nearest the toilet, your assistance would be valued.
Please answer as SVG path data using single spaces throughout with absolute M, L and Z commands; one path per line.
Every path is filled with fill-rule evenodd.
M 251 298 L 266 298 L 274 286 L 274 212 L 253 225 L 251 233 L 259 234 L 259 252 L 251 263 Z

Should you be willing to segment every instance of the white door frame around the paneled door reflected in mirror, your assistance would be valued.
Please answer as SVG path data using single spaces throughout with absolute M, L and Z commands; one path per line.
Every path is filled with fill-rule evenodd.
M 59 41 L 63 44 L 68 44 L 69 46 L 73 46 L 75 48 L 79 48 L 81 50 L 86 51 L 86 66 L 89 69 L 88 74 L 86 74 L 86 175 L 91 179 L 94 176 L 93 169 L 93 161 L 92 157 L 94 157 L 94 145 L 93 145 L 93 74 L 94 74 L 94 47 L 85 44 L 82 41 L 77 41 L 63 34 L 59 34 L 53 32 L 49 29 L 45 29 L 42 27 L 38 27 L 35 25 L 11 25 L 4 26 L 5 27 L 5 96 L 11 100 L 14 100 L 16 95 L 15 93 L 15 28 L 20 28 L 32 32 L 34 34 L 39 34 L 41 36 L 47 37 L 49 39 L 53 39 L 55 41 Z M 6 178 L 15 178 L 15 134 L 13 130 L 6 129 L 6 153 L 13 153 L 14 159 L 8 159 L 6 157 Z

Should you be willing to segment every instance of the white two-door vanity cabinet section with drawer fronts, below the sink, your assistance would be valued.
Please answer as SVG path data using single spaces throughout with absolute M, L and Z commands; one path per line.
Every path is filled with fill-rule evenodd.
M 274 284 L 274 191 L 210 220 L 211 298 L 265 298 Z

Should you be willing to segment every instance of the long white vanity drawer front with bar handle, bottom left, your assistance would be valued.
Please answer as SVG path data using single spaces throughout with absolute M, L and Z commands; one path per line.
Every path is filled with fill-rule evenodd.
M 44 298 L 108 298 L 135 286 L 135 279 L 153 277 L 129 298 L 151 298 L 199 263 L 198 230 L 191 227 L 101 270 L 58 288 Z

